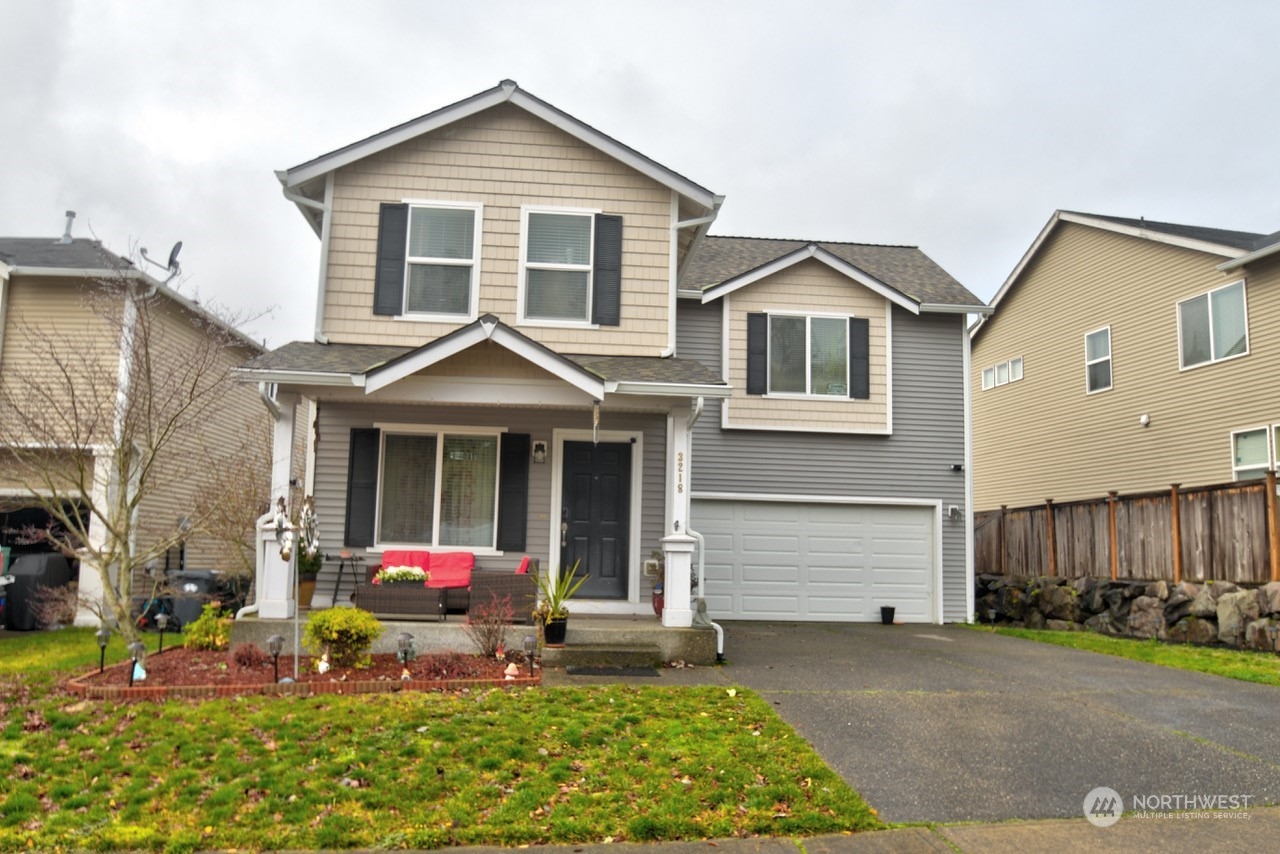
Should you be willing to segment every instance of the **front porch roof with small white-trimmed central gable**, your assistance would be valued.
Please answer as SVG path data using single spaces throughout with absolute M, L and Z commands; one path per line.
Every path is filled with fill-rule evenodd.
M 481 341 L 506 347 L 596 399 L 605 393 L 724 397 L 730 392 L 723 378 L 691 359 L 558 353 L 494 315 L 484 315 L 420 347 L 294 341 L 246 362 L 238 371 L 246 379 L 353 385 L 372 393 Z

